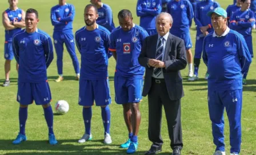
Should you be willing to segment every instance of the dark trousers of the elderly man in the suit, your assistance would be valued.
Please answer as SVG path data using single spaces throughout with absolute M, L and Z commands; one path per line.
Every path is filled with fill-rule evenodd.
M 153 147 L 163 144 L 161 137 L 162 106 L 165 109 L 171 149 L 182 149 L 181 99 L 170 100 L 164 80 L 152 79 L 149 99 L 149 140 Z M 174 88 L 175 89 L 175 88 Z

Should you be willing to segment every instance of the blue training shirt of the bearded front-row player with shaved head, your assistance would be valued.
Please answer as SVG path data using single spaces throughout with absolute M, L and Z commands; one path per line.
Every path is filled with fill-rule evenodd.
M 109 30 L 99 25 L 93 31 L 82 27 L 75 32 L 75 43 L 81 54 L 81 79 L 107 79 L 109 35 Z

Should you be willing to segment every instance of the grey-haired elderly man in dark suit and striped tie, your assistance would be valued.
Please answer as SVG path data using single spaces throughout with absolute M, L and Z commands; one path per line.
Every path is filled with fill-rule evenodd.
M 182 78 L 179 70 L 186 68 L 186 50 L 184 41 L 169 30 L 173 18 L 161 13 L 157 17 L 158 34 L 148 36 L 143 43 L 139 63 L 146 68 L 142 95 L 149 99 L 149 140 L 153 142 L 145 154 L 161 152 L 162 106 L 171 140 L 173 155 L 181 154 L 181 97 L 184 96 Z

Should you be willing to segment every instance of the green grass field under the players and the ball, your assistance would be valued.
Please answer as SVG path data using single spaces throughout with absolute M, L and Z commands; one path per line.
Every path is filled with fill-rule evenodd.
M 83 20 L 83 9 L 89 3 L 89 0 L 69 0 L 76 9 L 74 20 L 75 32 L 79 28 L 85 26 Z M 112 7 L 114 14 L 115 26 L 118 26 L 117 14 L 121 9 L 130 9 L 134 15 L 134 23 L 139 24 L 139 18 L 136 16 L 136 0 L 105 0 L 103 1 Z M 227 5 L 232 3 L 231 0 L 218 1 L 220 5 L 226 9 Z M 50 8 L 57 5 L 58 1 L 29 1 L 20 0 L 19 7 L 23 10 L 30 7 L 39 11 L 38 27 L 46 31 L 50 35 L 53 34 L 53 26 L 50 22 Z M 7 0 L 0 1 L 0 10 L 4 11 L 9 7 Z M 175 22 L 175 21 L 174 21 Z M 0 26 L 0 83 L 5 80 L 3 64 L 3 43 L 4 28 Z M 253 32 L 255 43 L 256 31 Z M 195 43 L 194 24 L 191 28 L 191 38 Z M 256 51 L 256 46 L 254 46 Z M 194 52 L 194 47 L 193 47 Z M 80 55 L 77 52 L 79 62 Z M 15 62 L 11 67 L 11 85 L 10 87 L 0 87 L 0 154 L 126 154 L 126 149 L 120 149 L 119 145 L 125 142 L 127 138 L 127 129 L 123 121 L 122 106 L 115 104 L 110 105 L 111 108 L 111 137 L 113 143 L 111 145 L 103 144 L 103 124 L 101 119 L 101 108 L 93 107 L 92 129 L 93 141 L 78 144 L 77 140 L 81 138 L 85 132 L 82 118 L 82 107 L 78 105 L 78 81 L 75 81 L 75 73 L 69 54 L 65 50 L 63 60 L 63 75 L 65 80 L 61 83 L 55 83 L 57 78 L 56 55 L 53 63 L 47 70 L 51 93 L 53 96 L 52 107 L 57 100 L 66 100 L 70 105 L 70 111 L 66 115 L 54 115 L 54 132 L 58 139 L 58 145 L 51 146 L 48 144 L 48 131 L 43 109 L 41 106 L 30 105 L 29 117 L 26 125 L 26 135 L 28 140 L 21 145 L 13 145 L 11 141 L 19 132 L 18 124 L 18 107 L 16 101 L 17 95 L 17 72 L 15 71 Z M 242 111 L 242 155 L 256 154 L 256 63 L 255 58 L 250 67 L 247 85 L 243 88 L 243 111 Z M 114 76 L 115 61 L 110 59 L 109 75 L 111 97 L 114 100 Z M 206 72 L 205 64 L 201 61 L 199 70 L 200 80 L 196 82 L 187 81 L 187 68 L 182 71 L 183 87 L 185 89 L 185 97 L 182 98 L 182 129 L 184 147 L 182 154 L 213 154 L 215 146 L 211 136 L 211 123 L 209 119 L 207 107 L 207 81 L 203 79 Z M 139 130 L 139 147 L 136 154 L 144 154 L 151 145 L 147 138 L 147 97 L 143 98 L 140 105 L 142 121 Z M 229 123 L 225 114 L 225 143 L 226 152 L 229 153 Z M 167 132 L 165 116 L 162 121 L 162 137 L 164 140 L 163 151 L 160 154 L 170 154 L 170 140 Z

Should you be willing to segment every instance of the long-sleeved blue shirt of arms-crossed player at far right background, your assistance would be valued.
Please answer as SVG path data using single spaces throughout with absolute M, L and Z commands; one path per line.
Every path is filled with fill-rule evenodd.
M 254 24 L 254 13 L 250 9 L 245 11 L 236 11 L 230 18 L 230 28 L 239 32 L 243 36 L 251 35 L 251 28 Z

